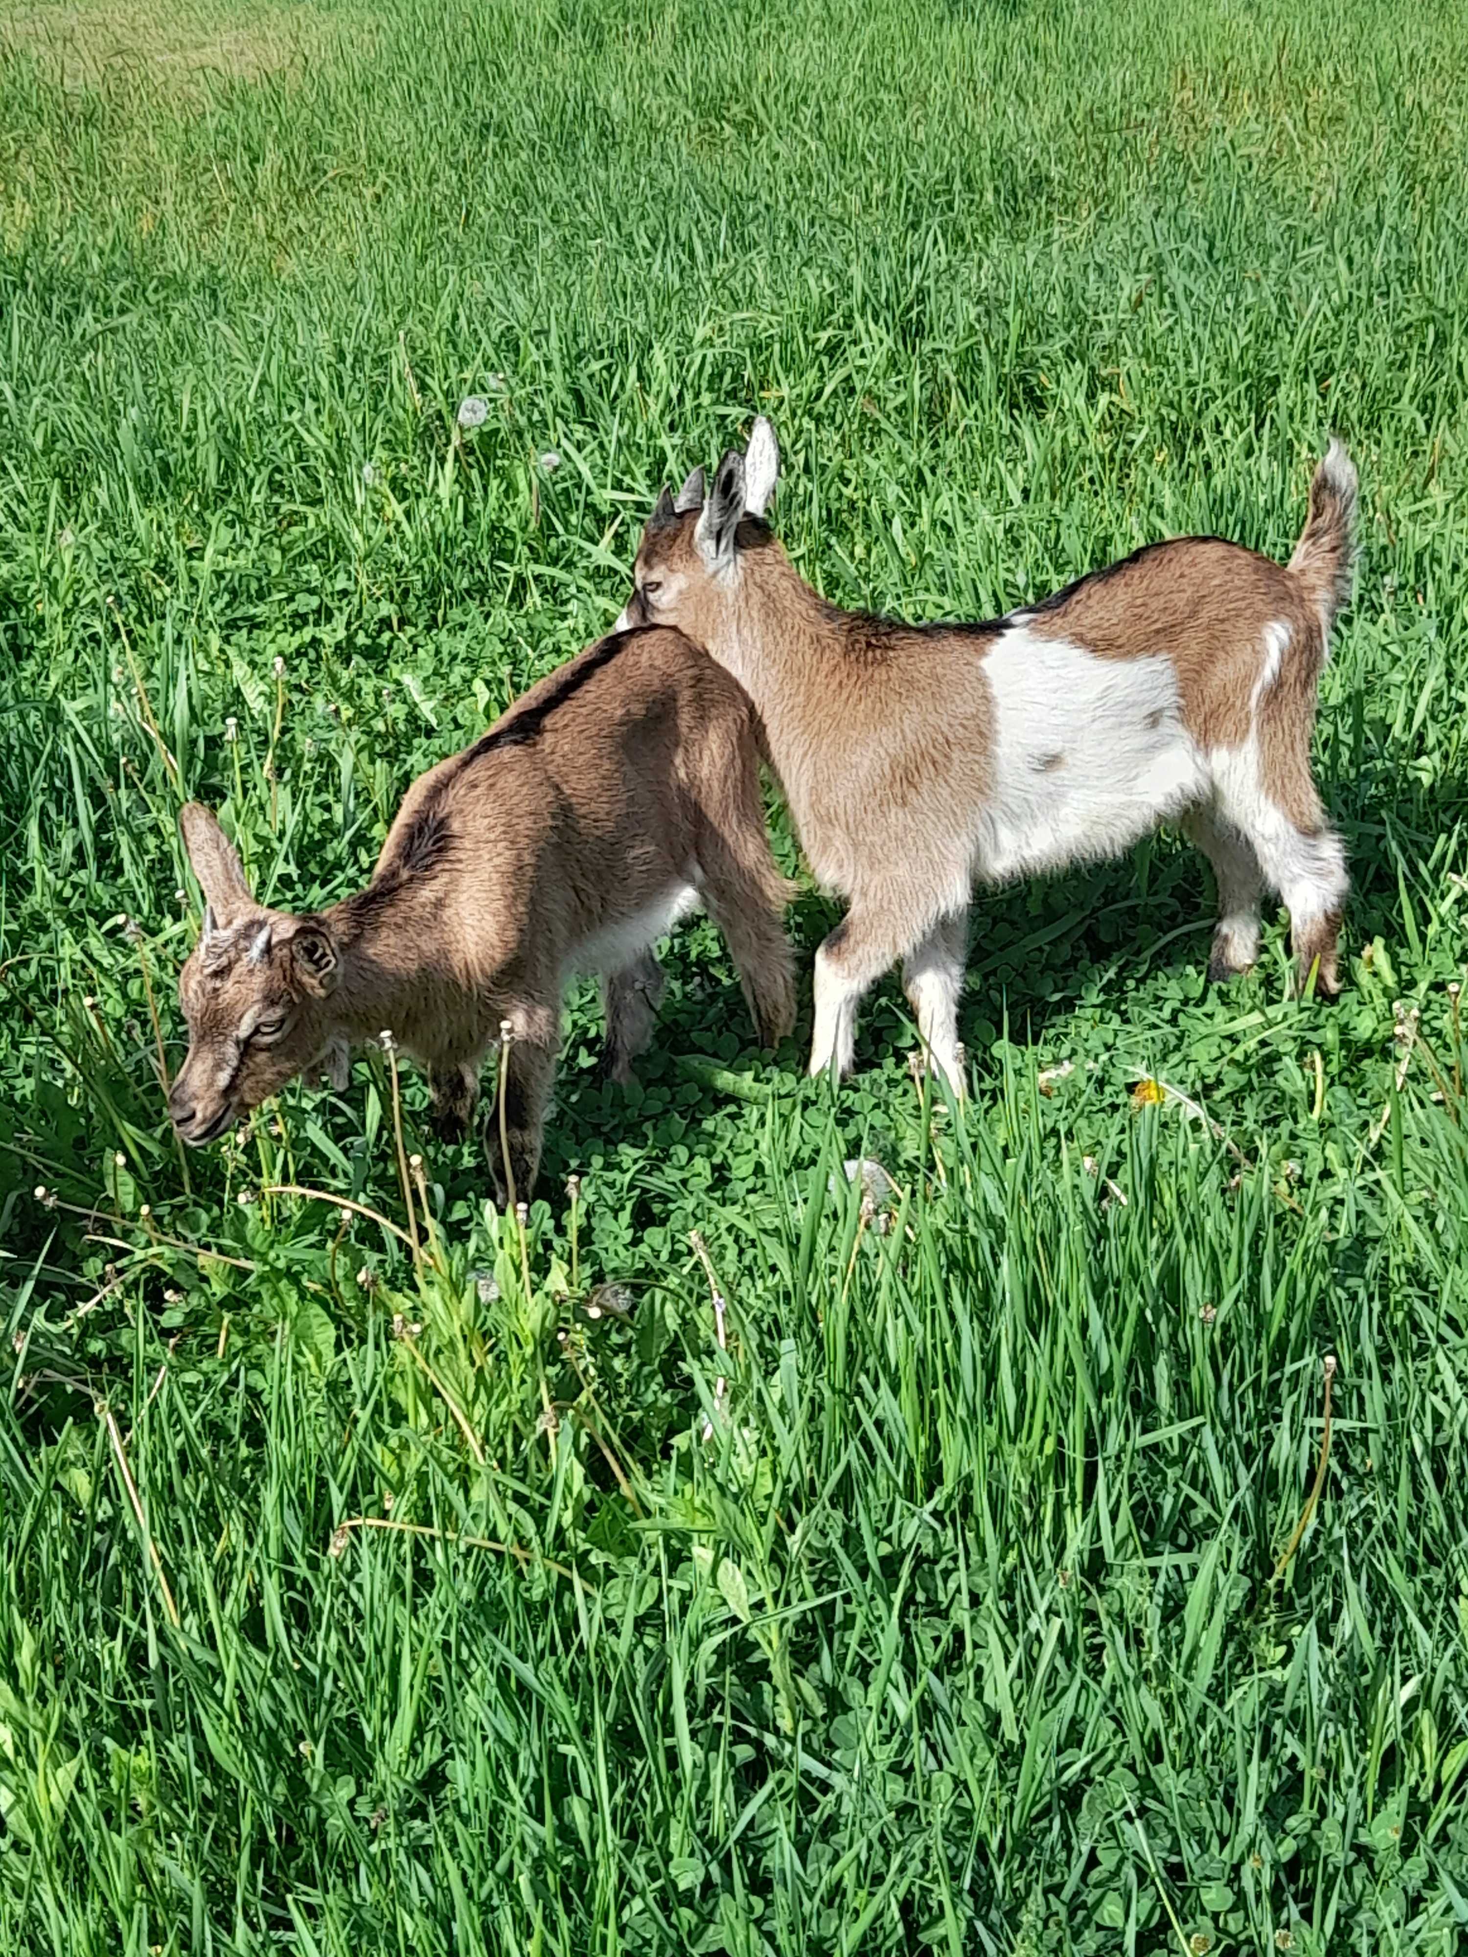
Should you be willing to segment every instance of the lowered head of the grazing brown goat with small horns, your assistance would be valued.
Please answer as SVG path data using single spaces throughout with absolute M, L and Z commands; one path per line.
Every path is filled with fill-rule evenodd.
M 254 902 L 207 808 L 190 802 L 180 828 L 206 906 L 204 932 L 178 975 L 188 1059 L 168 1114 L 182 1139 L 202 1147 L 323 1059 L 339 951 L 325 920 Z

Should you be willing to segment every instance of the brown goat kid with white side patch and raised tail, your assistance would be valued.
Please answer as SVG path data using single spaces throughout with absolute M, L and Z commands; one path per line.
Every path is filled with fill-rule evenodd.
M 1309 738 L 1351 595 L 1356 474 L 1339 442 L 1288 566 L 1176 538 L 983 624 L 828 605 L 763 521 L 777 476 L 759 417 L 712 493 L 703 470 L 664 489 L 619 626 L 675 624 L 746 687 L 810 869 L 848 898 L 816 953 L 810 1072 L 846 1072 L 857 1002 L 902 959 L 922 1041 L 961 1092 L 973 887 L 1118 855 L 1159 822 L 1214 865 L 1210 977 L 1255 961 L 1268 885 L 1300 984 L 1313 969 L 1337 990 L 1349 881 Z

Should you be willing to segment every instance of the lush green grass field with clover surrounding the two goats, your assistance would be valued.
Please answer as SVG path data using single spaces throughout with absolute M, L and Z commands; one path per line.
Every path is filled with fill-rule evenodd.
M 1466 180 L 1448 0 L 6 10 L 6 1951 L 1460 1947 Z M 180 798 L 344 894 L 759 407 L 914 616 L 1347 438 L 1341 1004 L 1165 836 L 983 900 L 961 1117 L 697 924 L 523 1243 L 384 1055 L 186 1161 Z

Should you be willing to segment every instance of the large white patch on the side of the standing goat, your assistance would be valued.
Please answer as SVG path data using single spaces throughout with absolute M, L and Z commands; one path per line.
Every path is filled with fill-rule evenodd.
M 994 691 L 994 789 L 975 871 L 1024 871 L 1118 855 L 1208 795 L 1172 661 L 1098 660 L 1010 622 L 985 656 Z

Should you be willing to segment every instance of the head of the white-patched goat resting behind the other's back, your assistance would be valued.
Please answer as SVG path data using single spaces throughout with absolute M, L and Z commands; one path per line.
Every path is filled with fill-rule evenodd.
M 728 648 L 742 560 L 771 542 L 763 517 L 777 478 L 775 431 L 759 415 L 748 450 L 728 450 L 712 489 L 705 493 L 703 470 L 693 470 L 677 495 L 664 489 L 642 532 L 634 591 L 615 630 L 671 624 L 711 652 Z

